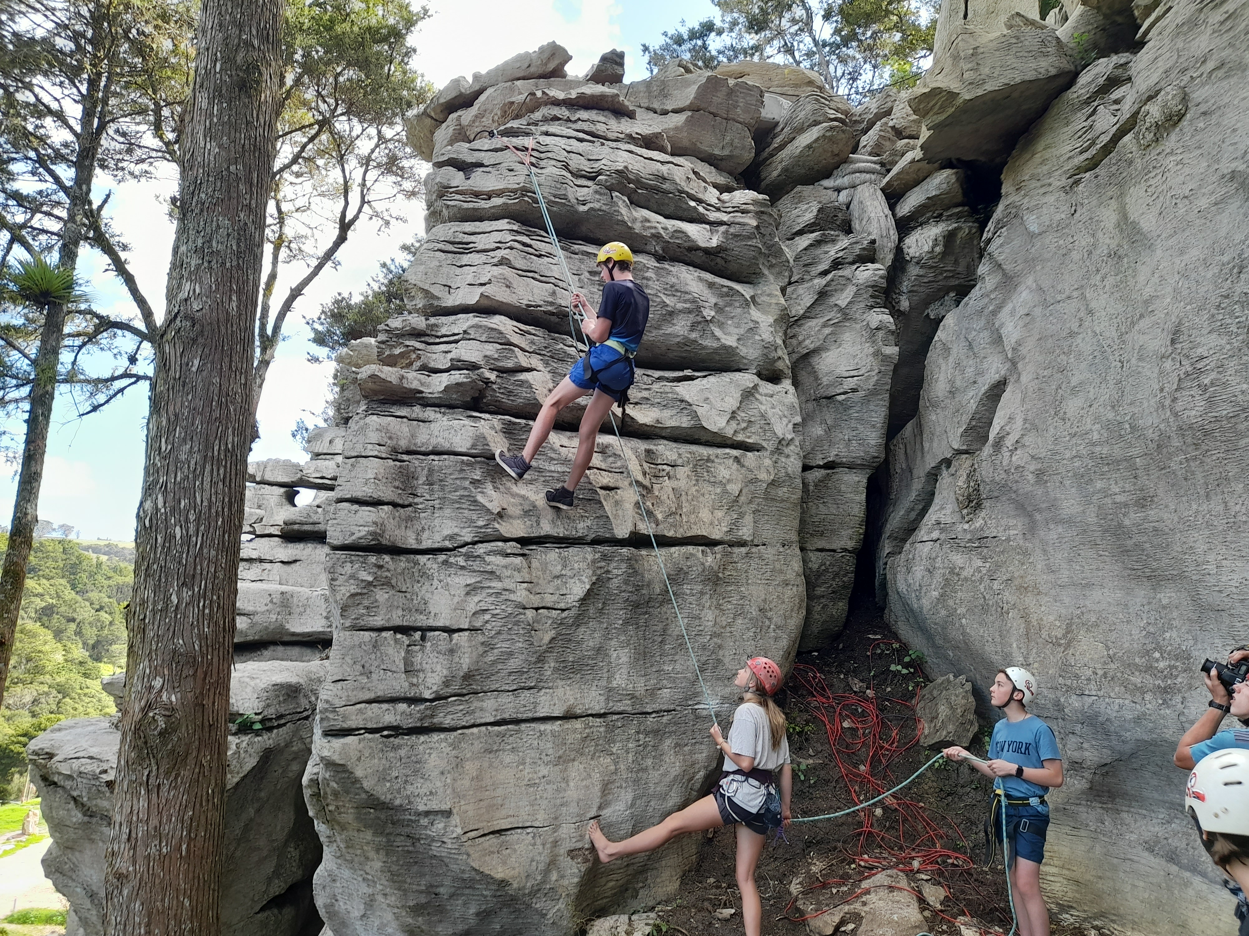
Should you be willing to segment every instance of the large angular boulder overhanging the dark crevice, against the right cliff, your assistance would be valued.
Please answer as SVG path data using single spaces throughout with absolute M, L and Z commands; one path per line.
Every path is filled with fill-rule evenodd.
M 1075 71 L 1074 56 L 1044 24 L 988 35 L 959 27 L 907 99 L 924 122 L 921 155 L 1004 161 Z

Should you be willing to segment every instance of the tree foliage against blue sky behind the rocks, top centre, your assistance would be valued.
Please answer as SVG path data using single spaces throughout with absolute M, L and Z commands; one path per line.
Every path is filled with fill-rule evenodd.
M 932 54 L 937 0 L 713 0 L 712 19 L 642 46 L 654 74 L 683 57 L 703 69 L 752 59 L 811 69 L 853 101 L 886 85 L 913 85 Z

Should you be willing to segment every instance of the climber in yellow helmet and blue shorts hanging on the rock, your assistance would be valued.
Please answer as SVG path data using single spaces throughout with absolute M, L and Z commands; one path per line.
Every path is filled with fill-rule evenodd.
M 590 406 L 581 417 L 577 454 L 572 459 L 568 480 L 563 487 L 546 493 L 547 503 L 561 510 L 572 509 L 572 492 L 577 489 L 590 467 L 590 459 L 595 456 L 598 427 L 607 417 L 607 411 L 612 408 L 612 403 L 620 402 L 623 412 L 623 402 L 633 383 L 633 356 L 642 343 L 642 334 L 651 314 L 649 297 L 633 282 L 633 253 L 628 247 L 620 241 L 612 241 L 598 251 L 596 263 L 605 283 L 603 301 L 598 311 L 595 311 L 582 293 L 572 295 L 573 306 L 583 316 L 581 331 L 593 346 L 546 398 L 537 419 L 533 421 L 525 451 L 518 456 L 510 456 L 503 451 L 495 453 L 495 461 L 503 467 L 503 470 L 521 480 L 533 466 L 533 458 L 547 441 L 547 436 L 551 434 L 560 411 L 592 392 Z

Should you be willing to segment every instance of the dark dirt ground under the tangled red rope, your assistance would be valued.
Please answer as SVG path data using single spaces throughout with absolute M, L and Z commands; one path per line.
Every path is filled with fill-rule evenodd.
M 851 619 L 833 646 L 819 654 L 801 655 L 796 674 L 803 675 L 804 681 L 812 684 L 816 683 L 814 673 L 818 673 L 833 694 L 864 698 L 874 688 L 883 735 L 892 738 L 894 745 L 902 748 L 916 738 L 914 713 L 908 703 L 914 703 L 916 691 L 923 684 L 917 660 L 908 659 L 908 655 L 909 649 L 896 640 L 873 603 L 854 602 Z M 803 665 L 813 669 L 803 670 Z M 799 681 L 792 678 L 787 696 L 782 699 L 791 724 L 789 744 L 796 774 L 792 802 L 794 817 L 836 812 L 854 802 L 833 758 L 828 730 L 814 715 L 809 701 L 812 694 Z M 828 705 L 817 705 L 816 709 L 828 714 L 833 711 Z M 863 738 L 863 729 L 858 719 L 853 718 L 853 713 L 859 710 L 853 705 L 843 705 L 839 711 L 843 713 L 838 715 L 843 729 L 839 744 L 843 749 L 853 748 Z M 987 740 L 988 731 L 982 730 L 968 748 L 983 755 Z M 892 760 L 886 758 L 879 769 L 868 768 L 866 773 L 881 782 L 881 789 L 887 790 L 911 776 L 934 754 L 936 750 L 911 744 Z M 842 763 L 853 771 L 868 766 L 862 764 L 862 753 L 848 754 L 842 758 Z M 868 789 L 862 782 L 858 785 L 861 790 Z M 862 792 L 859 801 L 874 795 L 874 791 Z M 853 886 L 854 882 L 878 867 L 906 871 L 908 884 L 917 891 L 922 890 L 922 884 L 944 885 L 950 896 L 942 901 L 940 912 L 948 917 L 963 917 L 965 911 L 984 927 L 984 934 L 1009 932 L 1010 911 L 1000 855 L 995 867 L 979 866 L 984 861 L 983 822 L 989 797 L 989 781 L 969 766 L 938 761 L 937 766 L 898 794 L 897 809 L 886 802 L 868 810 L 873 814 L 873 829 L 879 830 L 879 835 L 863 836 L 861 830 L 864 812 L 856 812 L 842 819 L 794 825 L 786 835 L 787 840 L 778 837 L 773 841 L 769 837 L 756 875 L 763 897 L 764 936 L 806 936 L 806 924 L 793 921 L 803 911 L 797 902 L 791 905 L 792 889 L 833 879 L 838 884 L 832 886 L 849 897 L 858 890 Z M 918 827 L 923 822 L 918 819 L 919 812 L 939 827 L 939 836 L 916 841 L 926 831 Z M 897 839 L 899 819 L 901 844 Z M 936 840 L 938 837 L 939 841 Z M 731 936 L 741 932 L 741 899 L 733 875 L 733 834 L 727 829 L 717 830 L 708 839 L 697 865 L 682 879 L 677 899 L 667 907 L 657 907 L 661 924 L 656 932 L 687 936 Z M 889 849 L 894 851 L 894 856 L 888 854 Z M 974 859 L 978 866 L 969 867 L 967 856 Z M 824 906 L 834 900 L 827 899 Z M 959 927 L 954 922 L 944 920 L 924 901 L 921 901 L 921 907 L 934 935 L 959 936 Z M 716 916 L 717 910 L 723 915 L 729 909 L 733 909 L 733 914 L 727 920 Z M 1064 912 L 1064 909 L 1052 906 L 1050 914 L 1053 936 L 1115 934 L 1107 925 L 1079 919 L 1074 912 Z M 843 925 L 838 934 L 848 934 L 851 929 L 853 927 Z

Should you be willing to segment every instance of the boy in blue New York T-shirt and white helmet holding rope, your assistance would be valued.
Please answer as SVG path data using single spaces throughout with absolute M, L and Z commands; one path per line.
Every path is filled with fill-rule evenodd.
M 1063 761 L 1054 731 L 1027 706 L 1037 694 L 1037 680 L 1022 666 L 998 670 L 989 686 L 989 701 L 1005 718 L 993 726 L 987 761 L 968 761 L 993 780 L 993 841 L 1002 841 L 1002 806 L 1005 797 L 1004 856 L 1019 915 L 1019 936 L 1049 936 L 1049 911 L 1040 895 L 1040 862 L 1045 857 L 1049 805 L 1045 794 L 1063 785 Z M 947 748 L 949 760 L 962 760 L 963 748 Z

